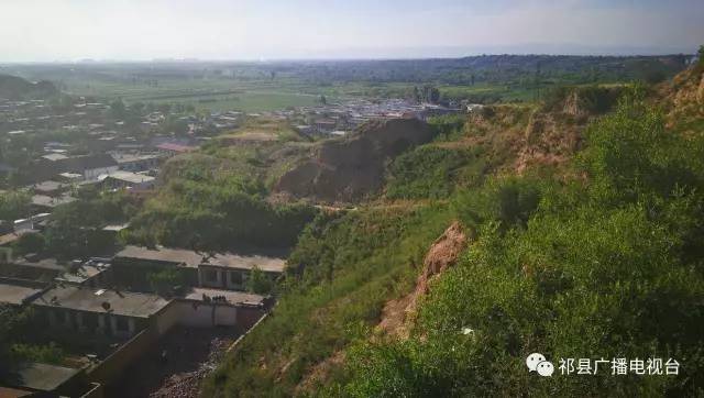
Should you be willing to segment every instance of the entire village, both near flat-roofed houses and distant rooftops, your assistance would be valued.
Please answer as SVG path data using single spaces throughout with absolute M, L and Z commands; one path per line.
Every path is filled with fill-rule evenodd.
M 76 201 L 81 189 L 150 196 L 164 162 L 197 151 L 252 118 L 285 121 L 315 141 L 344 136 L 373 119 L 425 120 L 466 109 L 466 104 L 359 99 L 262 113 L 204 115 L 157 109 L 128 123 L 111 114 L 110 104 L 97 101 L 81 99 L 55 111 L 44 100 L 0 99 L 0 139 L 6 142 L 52 137 L 56 131 L 78 137 L 43 141 L 41 151 L 21 164 L 0 162 L 0 177 L 31 195 L 26 217 L 0 221 L 0 305 L 32 309 L 43 331 L 37 334 L 67 347 L 73 364 L 26 364 L 20 382 L 0 388 L 15 394 L 102 397 L 106 386 L 116 384 L 173 328 L 227 327 L 241 335 L 273 306 L 272 297 L 254 294 L 248 286 L 253 278 L 273 285 L 285 269 L 285 259 L 277 256 L 162 246 L 127 246 L 109 256 L 74 261 L 13 253 L 13 243 L 24 234 L 44 231 L 56 208 Z M 179 131 L 168 130 L 174 122 Z M 103 225 L 97 232 L 116 235 L 125 228 Z M 174 274 L 182 285 L 162 289 L 153 279 Z

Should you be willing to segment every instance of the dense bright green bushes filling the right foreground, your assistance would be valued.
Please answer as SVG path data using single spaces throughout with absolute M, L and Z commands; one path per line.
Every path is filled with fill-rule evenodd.
M 702 140 L 666 131 L 662 115 L 638 97 L 586 137 L 578 165 L 586 181 L 501 183 L 477 195 L 487 200 L 458 200 L 459 210 L 474 207 L 465 214 L 481 222 L 477 242 L 433 284 L 411 339 L 362 340 L 350 352 L 353 378 L 341 390 L 704 394 Z M 553 377 L 527 372 L 532 352 L 554 363 Z M 569 357 L 609 365 L 598 375 L 560 375 L 559 358 Z M 672 357 L 680 374 L 615 376 L 613 357 Z

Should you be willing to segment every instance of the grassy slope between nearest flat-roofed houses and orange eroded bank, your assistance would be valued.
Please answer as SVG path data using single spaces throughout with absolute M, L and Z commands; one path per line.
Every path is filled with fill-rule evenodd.
M 317 389 L 316 371 L 323 382 L 343 377 L 324 361 L 367 335 L 384 302 L 410 288 L 450 219 L 439 206 L 320 215 L 288 259 L 270 318 L 205 383 L 204 396 L 290 396 Z

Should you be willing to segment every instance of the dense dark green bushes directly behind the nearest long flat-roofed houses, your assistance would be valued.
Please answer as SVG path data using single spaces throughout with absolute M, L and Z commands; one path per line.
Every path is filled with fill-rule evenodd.
M 136 214 L 124 237 L 134 243 L 196 250 L 294 245 L 316 209 L 270 203 L 248 191 L 248 186 L 172 179 Z

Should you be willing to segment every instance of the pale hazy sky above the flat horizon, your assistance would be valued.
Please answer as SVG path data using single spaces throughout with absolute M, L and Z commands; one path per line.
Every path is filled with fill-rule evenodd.
M 704 0 L 0 0 L 0 62 L 694 52 Z

